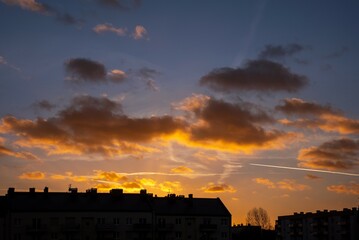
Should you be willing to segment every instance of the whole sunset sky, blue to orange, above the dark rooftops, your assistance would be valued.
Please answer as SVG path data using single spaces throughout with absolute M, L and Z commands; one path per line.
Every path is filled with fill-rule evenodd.
M 0 194 L 359 204 L 359 2 L 0 0 Z

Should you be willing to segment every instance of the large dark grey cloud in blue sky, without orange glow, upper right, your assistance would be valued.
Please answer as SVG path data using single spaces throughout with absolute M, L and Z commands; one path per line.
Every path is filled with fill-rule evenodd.
M 200 80 L 216 91 L 287 91 L 297 92 L 308 84 L 303 75 L 269 60 L 248 61 L 243 68 L 218 68 Z

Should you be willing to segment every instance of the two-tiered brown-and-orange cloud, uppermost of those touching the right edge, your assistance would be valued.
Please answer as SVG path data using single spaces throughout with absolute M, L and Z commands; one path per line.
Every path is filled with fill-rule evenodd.
M 330 105 L 320 105 L 297 98 L 285 99 L 282 102 L 282 105 L 276 106 L 276 110 L 291 116 L 306 117 L 296 120 L 281 119 L 280 122 L 284 125 L 319 128 L 322 131 L 340 134 L 359 134 L 359 120 L 344 117 L 339 110 L 333 109 Z

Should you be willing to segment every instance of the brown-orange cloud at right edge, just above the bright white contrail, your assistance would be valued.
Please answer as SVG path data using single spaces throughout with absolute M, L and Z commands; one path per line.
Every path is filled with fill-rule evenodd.
M 302 167 L 351 169 L 359 164 L 359 141 L 349 138 L 328 141 L 318 147 L 301 149 L 297 158 Z

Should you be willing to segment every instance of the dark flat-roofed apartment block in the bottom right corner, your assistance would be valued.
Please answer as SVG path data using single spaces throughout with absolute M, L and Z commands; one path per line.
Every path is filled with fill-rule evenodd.
M 280 216 L 276 221 L 278 240 L 357 240 L 359 213 L 357 208 L 343 211 L 317 211 Z

